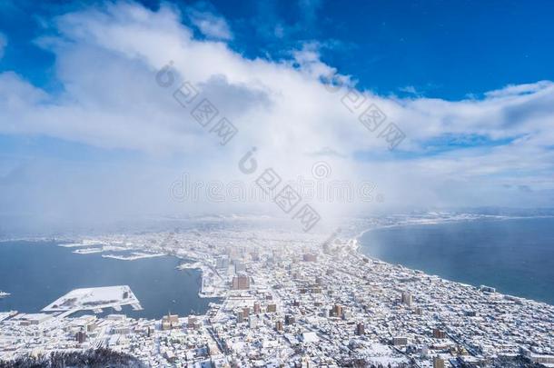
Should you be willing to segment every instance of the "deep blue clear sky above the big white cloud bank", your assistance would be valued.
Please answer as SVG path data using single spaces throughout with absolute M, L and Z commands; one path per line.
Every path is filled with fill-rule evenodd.
M 12 44 L 0 66 L 55 88 L 55 79 L 45 73 L 54 57 L 34 45 L 44 31 L 40 20 L 86 2 L 15 3 L 12 8 L 4 5 L 0 15 L 0 30 Z M 158 1 L 143 4 L 159 7 Z M 287 50 L 319 42 L 324 62 L 379 94 L 415 92 L 459 100 L 505 85 L 554 79 L 554 4 L 549 1 L 175 4 L 223 15 L 233 29 L 230 45 L 251 58 L 289 57 Z M 282 28 L 282 35 L 275 35 L 276 28 Z

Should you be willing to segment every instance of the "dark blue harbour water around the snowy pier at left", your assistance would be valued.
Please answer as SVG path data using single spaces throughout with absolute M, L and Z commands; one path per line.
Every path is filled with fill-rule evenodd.
M 77 248 L 49 243 L 0 243 L 0 312 L 34 313 L 80 287 L 126 284 L 143 306 L 127 315 L 160 318 L 163 314 L 204 313 L 214 299 L 198 296 L 201 273 L 178 271 L 179 260 L 163 256 L 136 261 L 102 258 L 101 254 L 73 254 Z M 106 312 L 116 313 L 109 308 Z

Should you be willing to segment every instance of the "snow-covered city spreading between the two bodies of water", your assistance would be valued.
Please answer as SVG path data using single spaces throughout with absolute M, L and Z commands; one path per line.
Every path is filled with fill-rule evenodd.
M 203 314 L 135 319 L 118 312 L 141 308 L 126 285 L 74 290 L 40 313 L 0 313 L 0 359 L 109 348 L 149 366 L 554 366 L 553 306 L 372 259 L 358 250 L 358 230 L 81 239 L 72 248 L 178 257 L 180 272 L 202 270 L 198 293 L 219 302 Z

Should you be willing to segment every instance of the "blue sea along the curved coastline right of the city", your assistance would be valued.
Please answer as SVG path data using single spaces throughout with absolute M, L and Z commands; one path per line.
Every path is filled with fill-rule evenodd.
M 391 227 L 360 242 L 385 262 L 554 304 L 554 218 Z

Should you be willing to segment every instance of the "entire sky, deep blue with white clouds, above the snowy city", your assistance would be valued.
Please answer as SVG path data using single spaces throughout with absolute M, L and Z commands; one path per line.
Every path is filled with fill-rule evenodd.
M 554 206 L 551 3 L 232 3 L 2 2 L 0 213 Z

